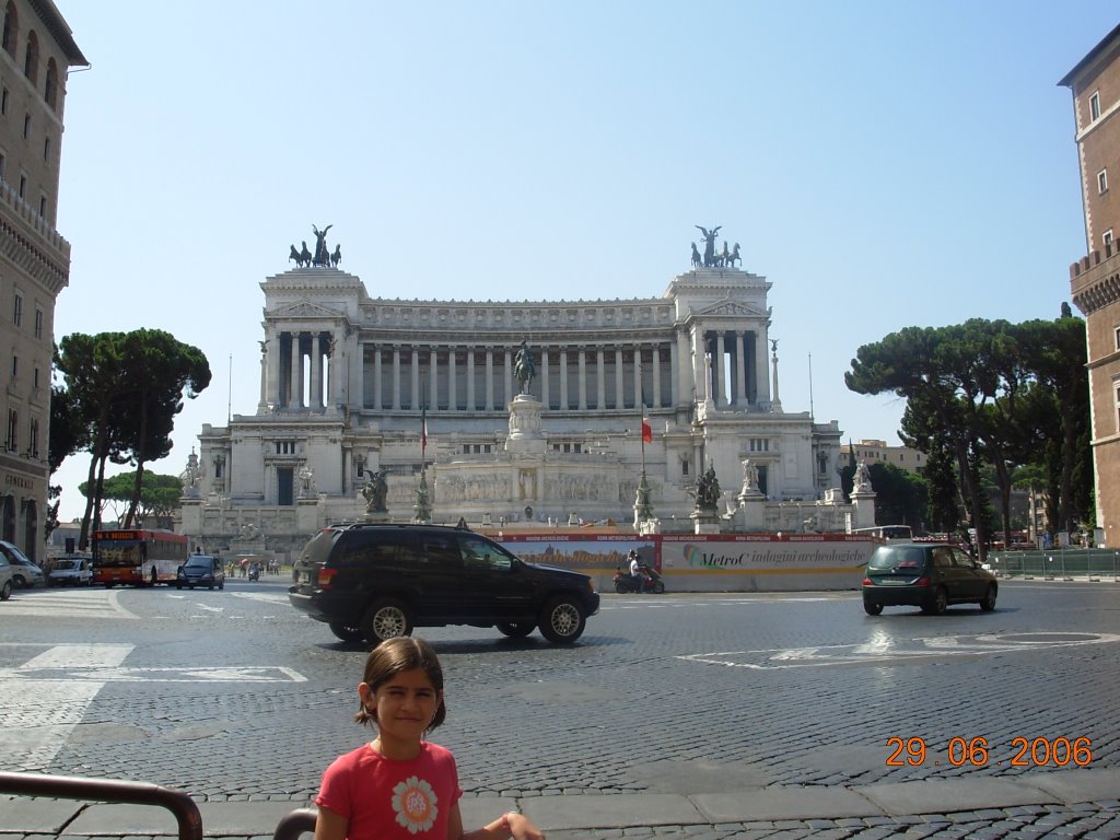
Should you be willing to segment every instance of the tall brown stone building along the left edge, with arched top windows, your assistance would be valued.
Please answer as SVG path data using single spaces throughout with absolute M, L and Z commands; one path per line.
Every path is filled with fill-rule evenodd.
M 54 3 L 7 0 L 0 30 L 0 538 L 45 554 L 55 299 L 69 243 L 55 230 L 67 69 L 87 66 Z

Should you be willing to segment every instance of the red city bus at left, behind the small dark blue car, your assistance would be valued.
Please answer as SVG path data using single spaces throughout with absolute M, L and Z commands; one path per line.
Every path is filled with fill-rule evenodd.
M 94 531 L 92 544 L 93 582 L 106 587 L 174 584 L 189 553 L 187 538 L 172 531 Z

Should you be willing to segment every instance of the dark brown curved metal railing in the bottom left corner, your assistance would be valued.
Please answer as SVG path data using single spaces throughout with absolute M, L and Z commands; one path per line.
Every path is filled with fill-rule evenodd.
M 198 805 L 183 791 L 148 782 L 113 778 L 47 776 L 38 773 L 0 773 L 0 793 L 50 796 L 88 802 L 119 802 L 166 808 L 179 824 L 179 840 L 203 840 L 203 818 Z

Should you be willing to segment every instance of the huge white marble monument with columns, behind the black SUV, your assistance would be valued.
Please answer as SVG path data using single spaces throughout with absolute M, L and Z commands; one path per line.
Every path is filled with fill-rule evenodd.
M 293 551 L 374 515 L 375 476 L 393 521 L 416 516 L 423 479 L 436 522 L 634 523 L 643 465 L 663 530 L 692 528 L 708 468 L 725 526 L 749 474 L 773 508 L 759 529 L 843 530 L 829 493 L 841 432 L 782 408 L 769 288 L 696 268 L 644 299 L 421 301 L 371 298 L 328 264 L 269 277 L 256 413 L 204 426 L 183 531 L 209 550 L 254 550 L 252 534 Z

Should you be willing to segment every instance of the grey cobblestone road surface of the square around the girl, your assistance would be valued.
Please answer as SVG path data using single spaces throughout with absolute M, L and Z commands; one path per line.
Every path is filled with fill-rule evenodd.
M 37 616 L 43 595 L 0 605 L 0 727 L 38 745 L 0 744 L 4 769 L 174 786 L 211 809 L 208 834 L 270 834 L 271 814 L 307 805 L 326 764 L 368 737 L 349 720 L 364 650 L 296 615 L 279 585 L 120 591 L 100 618 Z M 551 840 L 1111 838 L 1118 595 L 1005 582 L 992 614 L 877 618 L 855 592 L 608 595 L 571 647 L 488 628 L 417 635 L 444 663 L 433 739 L 458 757 L 464 813 L 520 806 Z M 3 610 L 17 601 L 18 623 Z M 35 660 L 75 640 L 123 655 L 84 670 Z M 73 719 L 50 718 L 75 684 Z M 55 700 L 36 706 L 39 689 Z M 829 812 L 839 794 L 859 813 Z M 254 804 L 278 809 L 259 831 L 223 815 Z M 4 840 L 58 833 L 3 815 L 27 805 L 0 799 Z M 86 806 L 67 837 L 123 833 L 81 833 L 110 808 Z

